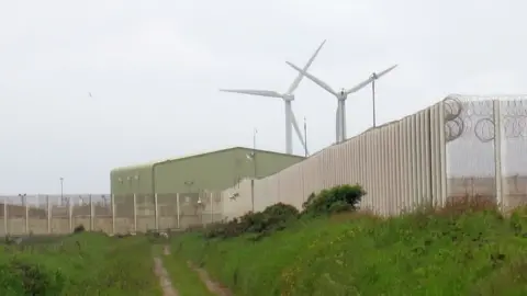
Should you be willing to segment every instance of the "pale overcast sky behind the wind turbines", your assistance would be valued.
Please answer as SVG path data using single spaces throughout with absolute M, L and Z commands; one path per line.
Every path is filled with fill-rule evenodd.
M 0 193 L 108 192 L 114 167 L 232 146 L 284 150 L 279 99 L 310 72 L 378 83 L 378 119 L 449 93 L 525 93 L 525 1 L 3 1 Z M 92 96 L 89 96 L 91 92 Z M 293 110 L 312 152 L 335 139 L 336 99 L 307 79 Z M 348 98 L 348 136 L 371 126 L 370 91 Z M 302 153 L 294 141 L 296 153 Z

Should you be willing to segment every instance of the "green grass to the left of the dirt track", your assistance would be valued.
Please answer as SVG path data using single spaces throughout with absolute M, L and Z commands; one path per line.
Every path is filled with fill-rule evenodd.
M 0 295 L 161 295 L 145 237 L 81 232 L 49 243 L 0 246 Z

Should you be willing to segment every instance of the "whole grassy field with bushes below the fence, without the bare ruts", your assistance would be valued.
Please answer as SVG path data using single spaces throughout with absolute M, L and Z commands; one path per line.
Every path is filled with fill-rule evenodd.
M 0 295 L 160 296 L 154 257 L 182 296 L 214 295 L 188 260 L 239 296 L 527 295 L 527 209 L 504 217 L 463 200 L 379 218 L 356 210 L 362 194 L 339 186 L 301 213 L 277 204 L 170 240 L 81 232 L 0 244 Z

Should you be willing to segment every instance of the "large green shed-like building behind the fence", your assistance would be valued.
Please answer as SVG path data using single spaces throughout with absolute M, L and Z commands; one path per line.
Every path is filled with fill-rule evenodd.
M 253 153 L 255 157 L 253 158 Z M 304 157 L 235 147 L 190 157 L 167 159 L 111 171 L 111 193 L 139 194 L 221 191 L 244 178 L 264 178 Z

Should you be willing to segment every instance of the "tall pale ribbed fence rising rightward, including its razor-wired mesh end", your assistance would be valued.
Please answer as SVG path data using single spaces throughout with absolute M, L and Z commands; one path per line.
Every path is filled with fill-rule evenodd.
M 360 184 L 360 206 L 383 216 L 461 195 L 495 200 L 504 210 L 527 201 L 527 96 L 450 95 L 401 121 L 260 180 L 224 191 L 234 218 L 278 202 L 301 208 L 313 192 Z

